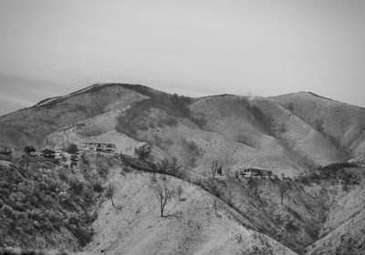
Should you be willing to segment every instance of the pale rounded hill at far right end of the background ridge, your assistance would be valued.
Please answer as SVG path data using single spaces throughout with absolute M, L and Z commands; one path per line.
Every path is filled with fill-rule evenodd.
M 339 148 L 344 156 L 342 159 L 364 152 L 364 108 L 319 97 L 310 92 L 288 94 L 274 99 Z

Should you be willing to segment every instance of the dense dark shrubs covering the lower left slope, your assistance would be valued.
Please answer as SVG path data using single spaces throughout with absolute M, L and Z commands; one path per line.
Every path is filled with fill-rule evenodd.
M 64 235 L 63 227 L 74 235 L 76 246 L 86 245 L 99 194 L 93 183 L 51 162 L 24 161 L 0 167 L 0 243 L 41 248 L 45 244 L 36 239 L 41 235 L 47 246 L 57 248 L 54 238 Z

